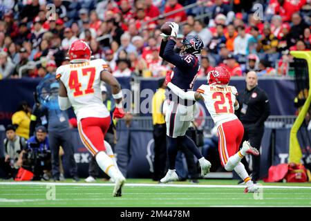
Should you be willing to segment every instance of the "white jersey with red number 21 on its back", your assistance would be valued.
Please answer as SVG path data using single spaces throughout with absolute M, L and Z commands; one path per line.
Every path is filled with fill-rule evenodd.
M 202 84 L 196 91 L 204 97 L 207 111 L 209 111 L 217 127 L 225 122 L 238 119 L 234 115 L 234 103 L 238 93 L 234 86 L 222 88 Z

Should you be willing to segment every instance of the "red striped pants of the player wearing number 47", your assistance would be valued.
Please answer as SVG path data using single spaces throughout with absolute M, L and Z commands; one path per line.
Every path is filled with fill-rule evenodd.
M 106 151 L 104 136 L 108 131 L 111 119 L 109 117 L 86 117 L 78 124 L 79 135 L 84 146 L 96 155 L 99 151 Z

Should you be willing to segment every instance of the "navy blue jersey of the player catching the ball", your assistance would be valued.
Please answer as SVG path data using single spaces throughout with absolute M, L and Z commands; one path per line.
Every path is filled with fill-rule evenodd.
M 200 68 L 200 61 L 198 61 L 198 58 L 194 55 L 179 55 L 174 52 L 173 49 L 175 45 L 176 42 L 171 39 L 169 41 L 162 41 L 160 57 L 162 57 L 164 61 L 168 61 L 175 66 L 175 68 L 173 68 L 171 83 L 182 90 L 191 90 Z

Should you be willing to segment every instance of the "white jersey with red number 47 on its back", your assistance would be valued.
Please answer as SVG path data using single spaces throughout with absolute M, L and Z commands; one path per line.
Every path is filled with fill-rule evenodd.
M 86 117 L 108 117 L 110 115 L 102 101 L 100 73 L 108 66 L 103 59 L 79 64 L 66 64 L 56 70 L 73 106 L 77 121 Z

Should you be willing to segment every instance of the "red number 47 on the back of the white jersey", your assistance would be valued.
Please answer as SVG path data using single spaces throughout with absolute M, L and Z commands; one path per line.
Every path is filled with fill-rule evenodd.
M 77 70 L 70 71 L 68 86 L 70 90 L 75 90 L 75 92 L 73 93 L 74 97 L 94 93 L 93 83 L 95 79 L 95 73 L 96 73 L 95 67 L 82 69 L 82 75 L 88 76 L 88 86 L 86 90 L 82 90 L 81 88 L 82 84 L 81 81 L 79 81 L 78 71 Z

